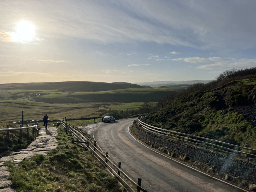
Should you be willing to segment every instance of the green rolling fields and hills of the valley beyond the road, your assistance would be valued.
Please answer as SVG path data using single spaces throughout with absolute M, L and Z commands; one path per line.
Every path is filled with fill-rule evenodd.
M 138 109 L 143 102 L 157 102 L 175 87 L 143 88 L 131 83 L 53 82 L 0 84 L 0 121 L 83 118 L 102 116 L 110 110 Z

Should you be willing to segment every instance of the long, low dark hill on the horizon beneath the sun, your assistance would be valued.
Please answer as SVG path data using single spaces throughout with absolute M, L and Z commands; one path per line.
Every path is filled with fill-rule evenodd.
M 65 81 L 45 83 L 10 83 L 0 84 L 0 89 L 24 90 L 58 90 L 58 91 L 108 91 L 114 89 L 142 88 L 142 86 L 125 82 L 92 82 L 92 81 Z

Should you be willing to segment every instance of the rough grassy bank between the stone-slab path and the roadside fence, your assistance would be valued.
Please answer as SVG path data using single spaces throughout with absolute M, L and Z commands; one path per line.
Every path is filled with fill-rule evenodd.
M 58 129 L 58 146 L 15 166 L 7 162 L 17 192 L 123 191 L 90 152 L 72 144 L 72 135 Z

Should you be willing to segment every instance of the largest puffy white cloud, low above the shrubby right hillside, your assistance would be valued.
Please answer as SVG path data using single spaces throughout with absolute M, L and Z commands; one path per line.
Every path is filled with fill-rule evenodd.
M 185 61 L 188 63 L 210 63 L 200 65 L 197 69 L 232 69 L 232 68 L 246 68 L 256 66 L 256 59 L 234 59 L 234 58 L 221 58 L 221 57 L 184 57 L 171 59 L 173 61 Z

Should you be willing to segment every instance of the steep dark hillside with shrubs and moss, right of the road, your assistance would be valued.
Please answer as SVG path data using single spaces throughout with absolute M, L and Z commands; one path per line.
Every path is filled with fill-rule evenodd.
M 145 121 L 256 148 L 256 78 L 236 79 L 219 80 L 226 83 L 206 91 L 200 89 L 213 85 L 194 85 Z M 199 90 L 191 91 L 195 88 Z

